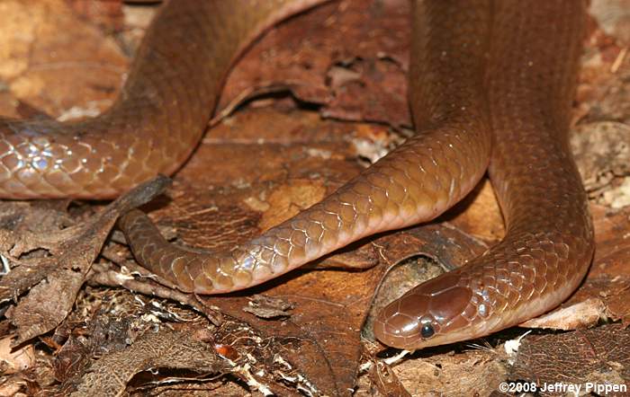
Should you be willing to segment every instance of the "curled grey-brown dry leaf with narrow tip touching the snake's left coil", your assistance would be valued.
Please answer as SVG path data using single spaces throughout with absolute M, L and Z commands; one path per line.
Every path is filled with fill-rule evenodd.
M 105 207 L 97 216 L 75 227 L 59 243 L 57 254 L 17 261 L 17 268 L 0 280 L 0 301 L 30 293 L 5 315 L 17 327 L 14 345 L 54 329 L 72 309 L 85 275 L 121 212 L 146 203 L 166 188 L 169 180 L 158 177 L 139 185 Z

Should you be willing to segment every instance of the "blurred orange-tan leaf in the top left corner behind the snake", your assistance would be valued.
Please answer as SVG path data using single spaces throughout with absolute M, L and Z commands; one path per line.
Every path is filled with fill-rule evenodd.
M 21 32 L 0 35 L 0 79 L 15 97 L 61 119 L 94 115 L 112 103 L 127 59 L 65 1 L 6 2 L 0 26 Z

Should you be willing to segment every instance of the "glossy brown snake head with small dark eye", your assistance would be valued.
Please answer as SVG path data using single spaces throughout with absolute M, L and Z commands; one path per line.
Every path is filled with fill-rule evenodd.
M 473 293 L 459 279 L 456 270 L 443 274 L 385 306 L 374 321 L 374 336 L 410 350 L 470 339 L 466 313 Z

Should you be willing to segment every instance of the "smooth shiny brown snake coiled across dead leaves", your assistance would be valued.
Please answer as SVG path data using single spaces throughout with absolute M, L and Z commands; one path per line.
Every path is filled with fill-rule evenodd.
M 240 52 L 274 22 L 322 1 L 167 3 L 103 115 L 73 123 L 0 119 L 0 196 L 112 198 L 175 172 L 202 137 Z M 579 0 L 414 1 L 415 137 L 232 251 L 171 246 L 134 210 L 120 226 L 136 258 L 187 292 L 251 287 L 361 237 L 429 221 L 489 169 L 504 240 L 385 307 L 375 335 L 394 347 L 424 348 L 554 308 L 578 287 L 593 253 L 567 140 L 584 7 Z

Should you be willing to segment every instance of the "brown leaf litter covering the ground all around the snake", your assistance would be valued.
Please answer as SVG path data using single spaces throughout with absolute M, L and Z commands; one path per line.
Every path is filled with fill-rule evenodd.
M 14 348 L 0 349 L 0 393 L 485 395 L 506 380 L 627 383 L 628 35 L 606 2 L 592 3 L 572 145 L 592 200 L 596 257 L 566 303 L 524 324 L 535 331 L 516 353 L 503 343 L 524 330 L 392 363 L 382 360 L 392 349 L 371 341 L 369 326 L 362 333 L 380 305 L 372 307 L 377 287 L 387 296 L 376 301 L 390 300 L 500 240 L 487 181 L 431 225 L 366 239 L 228 296 L 182 294 L 133 262 L 110 232 L 120 211 L 148 200 L 136 190 L 109 206 L 2 203 L 0 253 L 13 269 L 0 281 L 0 341 Z M 112 103 L 153 7 L 89 4 L 0 4 L 0 26 L 23 32 L 0 35 L 2 114 L 71 118 Z M 173 186 L 145 206 L 170 238 L 217 250 L 247 241 L 409 134 L 407 7 L 331 3 L 266 34 L 229 76 L 214 127 Z M 154 183 L 151 195 L 166 181 Z M 556 346 L 566 348 L 554 354 Z M 582 366 L 567 364 L 585 352 Z

